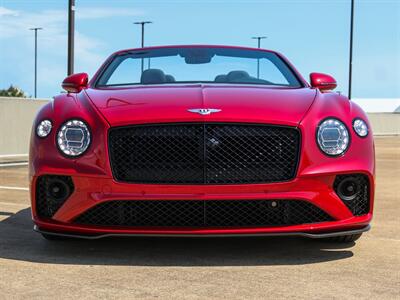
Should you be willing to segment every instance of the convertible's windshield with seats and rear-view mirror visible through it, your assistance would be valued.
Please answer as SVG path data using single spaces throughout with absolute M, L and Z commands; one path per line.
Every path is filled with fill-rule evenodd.
M 125 52 L 104 69 L 97 86 L 179 83 L 301 87 L 275 53 L 234 48 L 161 48 Z

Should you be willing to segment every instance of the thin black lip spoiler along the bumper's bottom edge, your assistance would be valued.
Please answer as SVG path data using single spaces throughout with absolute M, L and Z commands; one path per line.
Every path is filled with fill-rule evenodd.
M 33 227 L 33 230 L 39 233 L 54 235 L 59 237 L 66 238 L 78 238 L 78 239 L 87 239 L 87 240 L 96 240 L 106 237 L 257 237 L 257 236 L 302 236 L 312 239 L 323 239 L 330 238 L 336 236 L 344 236 L 344 235 L 352 235 L 366 232 L 371 229 L 371 225 L 367 225 L 363 228 L 347 230 L 347 231 L 337 231 L 337 232 L 328 232 L 328 233 L 308 233 L 308 232 L 282 232 L 282 233 L 250 233 L 250 234 L 150 234 L 150 233 L 140 233 L 140 234 L 125 234 L 125 233 L 106 233 L 99 235 L 81 235 L 74 233 L 60 233 L 60 232 L 52 232 L 41 230 L 37 225 Z

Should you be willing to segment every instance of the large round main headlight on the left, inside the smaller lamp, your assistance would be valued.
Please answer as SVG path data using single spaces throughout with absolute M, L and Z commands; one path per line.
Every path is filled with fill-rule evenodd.
M 88 125 L 80 120 L 69 120 L 58 130 L 57 145 L 65 155 L 79 156 L 86 151 L 89 144 Z

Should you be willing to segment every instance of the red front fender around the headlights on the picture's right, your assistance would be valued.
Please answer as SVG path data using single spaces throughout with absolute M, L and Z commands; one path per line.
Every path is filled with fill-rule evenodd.
M 324 154 L 316 141 L 318 125 L 330 117 L 342 121 L 350 135 L 349 148 L 339 157 Z M 318 92 L 312 107 L 299 124 L 303 141 L 298 176 L 349 172 L 363 172 L 374 176 L 375 151 L 372 132 L 365 138 L 359 137 L 353 130 L 355 118 L 365 120 L 371 128 L 366 114 L 357 104 L 336 93 Z

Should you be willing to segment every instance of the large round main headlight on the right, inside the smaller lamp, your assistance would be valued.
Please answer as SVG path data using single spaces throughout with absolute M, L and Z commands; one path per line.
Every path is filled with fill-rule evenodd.
M 346 126 L 337 119 L 326 119 L 317 132 L 318 145 L 328 155 L 343 154 L 350 144 L 349 132 Z

